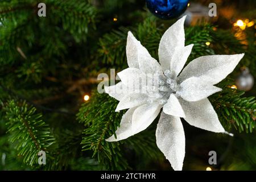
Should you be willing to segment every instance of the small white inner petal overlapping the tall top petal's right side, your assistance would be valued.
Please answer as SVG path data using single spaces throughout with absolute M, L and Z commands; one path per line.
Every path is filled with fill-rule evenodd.
M 191 53 L 194 44 L 190 44 L 186 47 L 177 48 L 174 56 L 171 59 L 171 77 L 175 78 L 179 75 L 180 71 L 183 69 L 188 56 Z

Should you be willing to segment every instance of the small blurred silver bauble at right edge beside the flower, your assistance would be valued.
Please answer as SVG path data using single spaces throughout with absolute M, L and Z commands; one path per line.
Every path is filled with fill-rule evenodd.
M 236 79 L 237 89 L 249 91 L 253 88 L 254 78 L 248 68 L 241 68 L 242 73 Z

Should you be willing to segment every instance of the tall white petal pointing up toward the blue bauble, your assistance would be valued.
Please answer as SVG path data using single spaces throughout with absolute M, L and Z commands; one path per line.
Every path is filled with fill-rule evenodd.
M 186 16 L 177 20 L 168 30 L 164 33 L 160 40 L 158 54 L 159 61 L 163 71 L 170 69 L 172 56 L 174 56 L 176 47 L 185 46 L 185 33 L 184 21 Z

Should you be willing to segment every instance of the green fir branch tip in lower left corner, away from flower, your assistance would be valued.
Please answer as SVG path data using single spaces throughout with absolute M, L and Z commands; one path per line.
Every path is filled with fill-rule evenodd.
M 38 152 L 54 143 L 48 125 L 43 121 L 42 114 L 37 114 L 35 107 L 29 107 L 26 102 L 18 103 L 13 100 L 3 108 L 8 122 L 10 142 L 15 144 L 18 155 L 23 156 L 25 163 L 37 163 Z

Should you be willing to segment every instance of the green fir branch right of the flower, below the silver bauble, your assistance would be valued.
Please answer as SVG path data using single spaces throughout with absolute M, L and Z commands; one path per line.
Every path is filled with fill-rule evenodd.
M 231 84 L 230 84 L 231 83 Z M 232 82 L 222 81 L 218 84 L 222 92 L 210 96 L 214 109 L 226 129 L 232 126 L 240 133 L 253 132 L 255 128 L 256 100 L 255 97 L 241 97 L 245 92 L 232 89 Z

